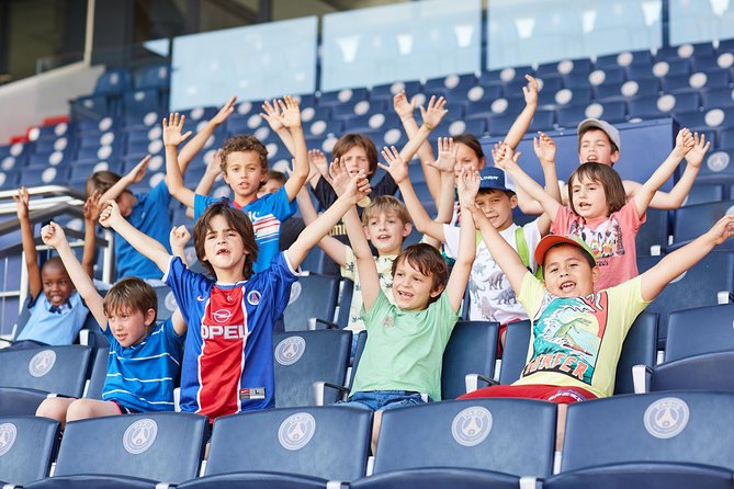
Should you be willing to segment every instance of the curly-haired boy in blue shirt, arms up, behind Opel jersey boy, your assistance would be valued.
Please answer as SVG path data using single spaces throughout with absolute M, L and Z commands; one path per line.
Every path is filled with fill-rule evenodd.
M 298 103 L 290 96 L 285 98 L 285 102 L 278 103 L 282 110 L 279 122 L 290 130 L 295 148 L 294 172 L 280 191 L 258 198 L 268 172 L 268 150 L 255 136 L 235 136 L 227 139 L 221 155 L 224 179 L 235 195 L 234 200 L 227 202 L 246 212 L 255 226 L 259 248 L 253 269 L 256 272 L 268 269 L 273 257 L 278 254 L 281 223 L 295 212 L 292 203 L 308 177 L 308 155 L 301 127 Z M 166 178 L 169 179 L 171 195 L 193 207 L 196 220 L 206 207 L 222 200 L 195 194 L 183 186 L 183 178 L 177 164 L 178 146 L 191 134 L 181 134 L 183 122 L 184 117 L 180 117 L 178 113 L 171 114 L 168 121 L 163 120 Z

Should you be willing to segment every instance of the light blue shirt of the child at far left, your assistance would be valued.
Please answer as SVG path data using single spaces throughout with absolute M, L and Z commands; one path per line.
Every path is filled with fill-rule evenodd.
M 76 291 L 58 312 L 52 311 L 53 307 L 43 292 L 38 294 L 38 297 L 29 304 L 31 317 L 15 341 L 33 340 L 54 346 L 74 343 L 79 330 L 84 326 L 89 309 Z

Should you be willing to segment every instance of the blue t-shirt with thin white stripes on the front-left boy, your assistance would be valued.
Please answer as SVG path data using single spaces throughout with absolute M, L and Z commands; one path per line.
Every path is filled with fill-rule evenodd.
M 154 326 L 134 346 L 122 346 L 109 325 L 103 333 L 110 342 L 110 356 L 102 399 L 114 399 L 142 412 L 172 411 L 184 337 L 176 334 L 171 319 Z

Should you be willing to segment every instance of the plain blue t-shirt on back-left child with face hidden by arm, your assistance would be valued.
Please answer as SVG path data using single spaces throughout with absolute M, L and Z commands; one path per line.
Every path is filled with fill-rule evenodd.
M 171 202 L 171 193 L 168 191 L 166 180 L 161 180 L 147 194 L 135 194 L 135 197 L 137 203 L 127 216 L 127 221 L 144 235 L 160 242 L 170 252 L 171 219 L 168 217 L 168 204 Z M 160 278 L 162 275 L 153 261 L 140 254 L 117 232 L 115 232 L 115 261 L 117 280 L 125 276 Z

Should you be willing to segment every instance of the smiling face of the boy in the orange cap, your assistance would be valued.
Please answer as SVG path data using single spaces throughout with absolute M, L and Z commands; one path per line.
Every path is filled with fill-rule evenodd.
M 556 297 L 585 297 L 594 293 L 599 269 L 591 268 L 584 251 L 573 244 L 557 244 L 545 253 L 545 288 Z

